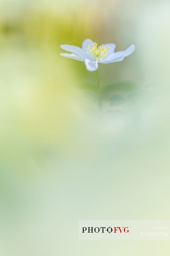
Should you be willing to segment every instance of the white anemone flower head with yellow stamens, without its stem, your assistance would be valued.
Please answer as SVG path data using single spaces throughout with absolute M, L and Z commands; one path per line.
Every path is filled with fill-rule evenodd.
M 114 52 L 115 44 L 102 44 L 97 46 L 97 43 L 90 39 L 83 42 L 82 48 L 69 44 L 62 44 L 60 47 L 72 53 L 60 53 L 61 56 L 84 61 L 87 70 L 95 71 L 98 68 L 98 63 L 111 63 L 122 61 L 135 51 L 135 45 L 131 44 L 125 51 Z

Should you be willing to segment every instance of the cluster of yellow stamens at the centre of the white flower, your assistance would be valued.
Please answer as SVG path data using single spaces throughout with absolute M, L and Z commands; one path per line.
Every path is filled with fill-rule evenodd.
M 109 54 L 110 46 L 104 46 L 104 44 L 97 46 L 97 43 L 93 42 L 91 46 L 87 45 L 86 52 L 90 55 L 92 59 L 105 60 L 107 54 Z

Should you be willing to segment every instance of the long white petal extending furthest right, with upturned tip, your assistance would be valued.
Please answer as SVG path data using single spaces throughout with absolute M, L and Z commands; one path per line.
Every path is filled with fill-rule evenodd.
M 106 64 L 111 62 L 122 61 L 125 57 L 129 56 L 135 51 L 135 45 L 131 44 L 125 51 L 114 52 L 107 55 L 105 60 L 100 60 L 100 63 Z

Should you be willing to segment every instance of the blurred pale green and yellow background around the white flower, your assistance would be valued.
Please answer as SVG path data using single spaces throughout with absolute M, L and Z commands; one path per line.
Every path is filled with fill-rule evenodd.
M 167 241 L 78 241 L 78 220 L 169 219 L 169 8 L 1 0 L 0 255 L 168 255 Z M 102 90 L 113 84 L 101 116 L 83 93 L 95 72 L 59 55 L 86 38 L 136 46 L 99 65 Z M 128 110 L 109 106 L 133 90 Z

